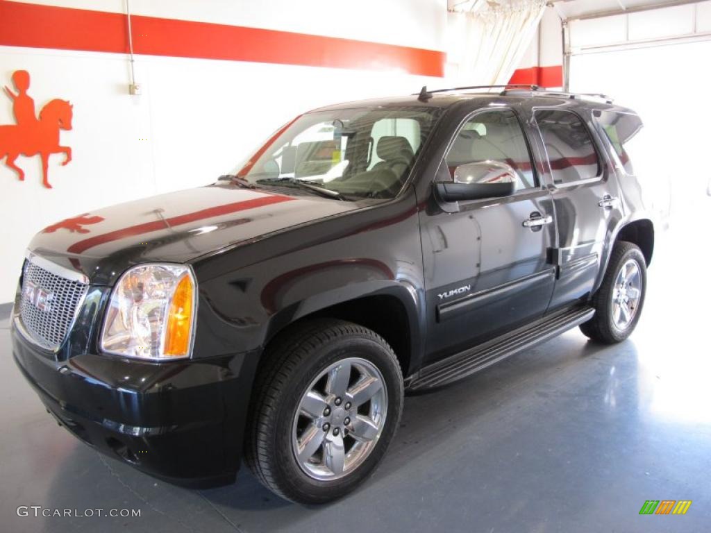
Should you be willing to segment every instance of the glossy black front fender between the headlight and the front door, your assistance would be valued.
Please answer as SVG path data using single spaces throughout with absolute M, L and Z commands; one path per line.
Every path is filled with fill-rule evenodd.
M 417 276 L 410 279 L 407 269 L 396 273 L 384 262 L 351 258 L 257 279 L 267 270 L 241 272 L 200 286 L 193 357 L 258 350 L 294 321 L 333 306 L 341 306 L 342 315 L 343 306 L 355 301 L 365 303 L 367 310 L 365 298 L 380 296 L 394 298 L 405 312 L 410 357 L 412 362 L 419 360 L 424 345 L 424 291 L 417 289 L 422 284 Z

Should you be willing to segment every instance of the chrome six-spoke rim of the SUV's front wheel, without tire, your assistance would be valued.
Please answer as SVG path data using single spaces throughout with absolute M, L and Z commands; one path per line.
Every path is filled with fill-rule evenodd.
M 348 357 L 311 382 L 292 424 L 292 451 L 310 478 L 335 480 L 358 468 L 385 427 L 387 390 L 372 362 Z

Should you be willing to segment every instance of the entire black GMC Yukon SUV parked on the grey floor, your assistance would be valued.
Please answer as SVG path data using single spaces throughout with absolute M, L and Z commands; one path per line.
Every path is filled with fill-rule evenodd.
M 18 367 L 61 425 L 146 473 L 229 483 L 244 456 L 325 502 L 373 472 L 405 392 L 577 325 L 624 340 L 654 244 L 642 123 L 502 89 L 316 109 L 211 185 L 46 228 Z

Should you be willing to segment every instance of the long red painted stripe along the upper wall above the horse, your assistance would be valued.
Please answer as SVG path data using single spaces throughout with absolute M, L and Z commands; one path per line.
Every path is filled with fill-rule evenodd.
M 131 23 L 137 54 L 444 75 L 438 50 L 139 15 Z M 0 0 L 0 45 L 127 53 L 126 16 Z

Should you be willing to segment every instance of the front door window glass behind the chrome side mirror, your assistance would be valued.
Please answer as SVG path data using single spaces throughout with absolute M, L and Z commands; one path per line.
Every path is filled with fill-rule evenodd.
M 501 161 L 518 175 L 517 189 L 535 187 L 528 146 L 515 114 L 508 109 L 476 114 L 466 122 L 447 154 L 449 173 L 464 163 Z

